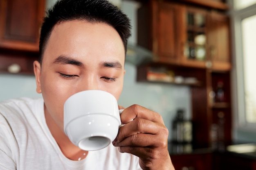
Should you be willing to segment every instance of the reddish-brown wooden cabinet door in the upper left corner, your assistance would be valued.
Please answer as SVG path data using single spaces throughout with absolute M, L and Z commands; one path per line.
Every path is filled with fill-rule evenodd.
M 0 0 L 0 48 L 38 51 L 45 0 Z

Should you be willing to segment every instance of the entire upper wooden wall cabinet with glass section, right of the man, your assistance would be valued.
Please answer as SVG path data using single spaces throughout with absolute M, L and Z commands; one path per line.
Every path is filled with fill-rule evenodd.
M 230 70 L 229 17 L 177 2 L 150 0 L 138 10 L 138 45 L 159 62 Z

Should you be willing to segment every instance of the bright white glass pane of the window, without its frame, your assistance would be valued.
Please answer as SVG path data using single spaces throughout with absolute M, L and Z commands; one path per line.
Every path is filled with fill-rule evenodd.
M 245 120 L 256 122 L 256 15 L 242 20 Z

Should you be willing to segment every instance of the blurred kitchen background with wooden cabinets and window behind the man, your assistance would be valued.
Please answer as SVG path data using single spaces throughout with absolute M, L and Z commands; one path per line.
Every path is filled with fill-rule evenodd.
M 55 1 L 0 0 L 0 101 L 41 97 L 32 63 Z M 119 105 L 162 115 L 176 170 L 256 170 L 256 0 L 112 2 L 132 24 Z

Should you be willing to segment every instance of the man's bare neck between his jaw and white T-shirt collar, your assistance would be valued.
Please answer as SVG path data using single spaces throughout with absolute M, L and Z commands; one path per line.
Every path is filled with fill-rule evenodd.
M 81 150 L 70 141 L 67 135 L 65 135 L 64 131 L 56 124 L 46 108 L 45 120 L 50 132 L 52 133 L 52 136 L 56 140 L 61 152 L 63 155 L 65 155 L 65 157 L 77 161 L 79 159 L 84 159 L 87 156 L 88 151 Z

